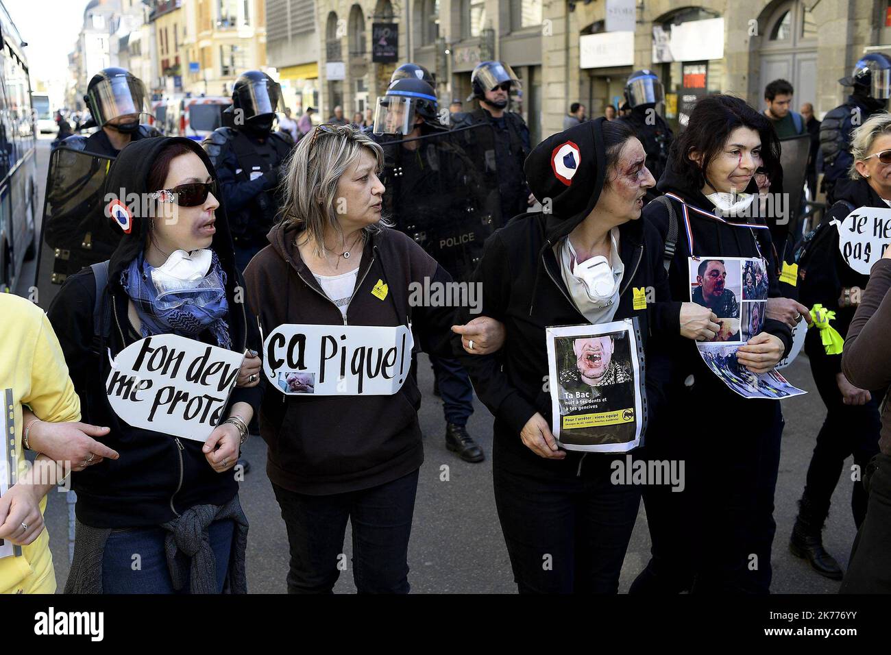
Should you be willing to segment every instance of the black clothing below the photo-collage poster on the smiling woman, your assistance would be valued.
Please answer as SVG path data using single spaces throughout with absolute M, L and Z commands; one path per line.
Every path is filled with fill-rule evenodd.
M 770 591 L 780 403 L 708 397 L 703 383 L 715 381 L 680 392 L 671 403 L 674 417 L 647 432 L 645 456 L 683 460 L 685 487 L 643 490 L 652 557 L 632 594 Z

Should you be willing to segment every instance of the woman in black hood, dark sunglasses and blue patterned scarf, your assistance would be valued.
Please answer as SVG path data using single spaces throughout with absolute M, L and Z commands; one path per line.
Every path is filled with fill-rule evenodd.
M 107 262 L 108 282 L 102 287 L 100 278 L 97 299 L 96 274 L 86 268 L 49 309 L 84 420 L 110 428 L 103 440 L 119 454 L 88 459 L 73 474 L 78 529 L 69 593 L 246 592 L 248 524 L 233 467 L 262 396 L 259 359 L 245 357 L 225 418 L 204 444 L 129 425 L 104 386 L 110 360 L 152 335 L 259 350 L 212 171 L 200 146 L 182 137 L 121 151 L 105 187 L 110 220 L 125 232 Z M 98 330 L 97 308 L 108 313 Z

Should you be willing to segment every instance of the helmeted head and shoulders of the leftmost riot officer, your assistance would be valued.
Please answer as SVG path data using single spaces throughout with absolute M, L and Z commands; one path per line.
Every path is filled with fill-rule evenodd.
M 156 128 L 140 124 L 140 116 L 148 113 L 148 96 L 142 80 L 128 70 L 100 70 L 86 86 L 84 102 L 92 124 L 102 129 L 90 136 L 71 135 L 62 147 L 117 157 L 128 143 L 161 135 Z

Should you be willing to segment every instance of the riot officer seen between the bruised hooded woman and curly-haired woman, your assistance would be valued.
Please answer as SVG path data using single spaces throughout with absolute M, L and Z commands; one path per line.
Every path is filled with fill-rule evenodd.
M 657 182 L 666 169 L 668 148 L 674 139 L 671 127 L 656 111 L 656 106 L 663 100 L 665 91 L 656 73 L 646 69 L 635 70 L 625 82 L 625 104 L 630 111 L 619 117 L 634 130 L 634 135 L 642 143 L 647 153 L 646 166 Z M 647 201 L 657 195 L 654 186 L 647 191 Z

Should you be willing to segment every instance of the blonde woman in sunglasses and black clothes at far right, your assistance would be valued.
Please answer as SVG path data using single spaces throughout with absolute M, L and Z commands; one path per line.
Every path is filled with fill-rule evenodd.
M 891 115 L 885 111 L 873 114 L 857 127 L 852 133 L 851 154 L 854 163 L 849 179 L 836 183 L 836 202 L 811 239 L 806 263 L 799 270 L 798 285 L 798 297 L 807 307 L 820 303 L 835 312 L 830 325 L 843 338 L 860 307 L 870 276 L 857 273 L 845 263 L 838 251 L 838 229 L 828 223 L 844 220 L 856 208 L 887 209 L 891 205 Z M 807 332 L 805 353 L 817 391 L 826 405 L 826 420 L 813 446 L 789 548 L 810 561 L 822 576 L 838 580 L 842 569 L 823 547 L 822 527 L 847 457 L 854 455 L 854 463 L 866 471 L 867 463 L 879 453 L 879 401 L 884 390 L 860 389 L 848 381 L 842 373 L 841 354 L 827 355 L 816 330 Z M 857 528 L 866 516 L 866 506 L 866 490 L 855 482 L 851 510 Z

